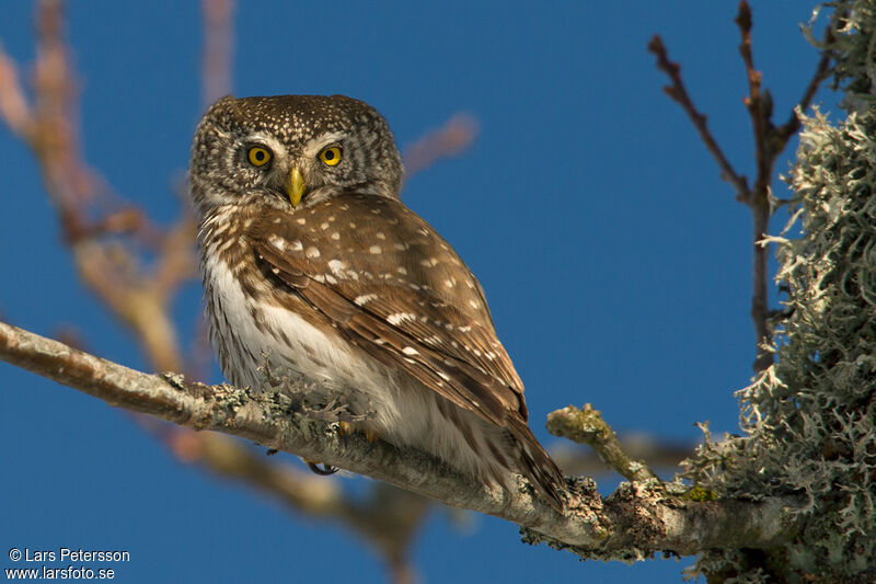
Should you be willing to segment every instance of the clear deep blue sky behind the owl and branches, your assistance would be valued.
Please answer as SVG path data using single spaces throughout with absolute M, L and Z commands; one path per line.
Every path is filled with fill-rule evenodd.
M 408 181 L 405 202 L 483 284 L 527 386 L 533 431 L 591 402 L 620 432 L 695 440 L 738 430 L 753 359 L 750 216 L 719 180 L 645 47 L 660 33 L 739 172 L 753 174 L 736 2 L 241 2 L 234 93 L 344 93 L 402 148 L 458 112 L 464 156 Z M 177 211 L 200 115 L 199 2 L 71 3 L 87 160 L 159 222 Z M 3 7 L 0 42 L 34 56 L 32 5 Z M 753 2 L 756 65 L 784 121 L 817 60 L 807 2 Z M 822 92 L 819 99 L 834 98 Z M 132 367 L 127 332 L 78 282 L 32 154 L 0 128 L 0 314 Z M 777 168 L 787 167 L 788 152 Z M 777 185 L 776 188 L 782 188 Z M 773 230 L 781 227 L 781 220 Z M 12 277 L 11 275 L 15 276 Z M 197 283 L 175 314 L 188 334 Z M 211 381 L 220 379 L 218 370 Z M 381 582 L 342 529 L 289 515 L 171 458 L 124 411 L 0 365 L 0 566 L 11 547 L 126 549 L 122 582 Z M 616 479 L 603 478 L 609 492 Z M 415 546 L 428 582 L 679 582 L 689 561 L 581 563 L 519 543 L 515 526 L 436 514 Z

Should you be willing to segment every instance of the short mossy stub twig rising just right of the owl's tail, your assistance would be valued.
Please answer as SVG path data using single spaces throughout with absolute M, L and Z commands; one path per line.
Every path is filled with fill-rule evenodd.
M 580 410 L 569 405 L 551 412 L 548 415 L 548 431 L 554 436 L 591 446 L 602 460 L 630 481 L 659 481 L 657 473 L 645 462 L 634 460 L 623 450 L 614 431 L 589 403 Z

